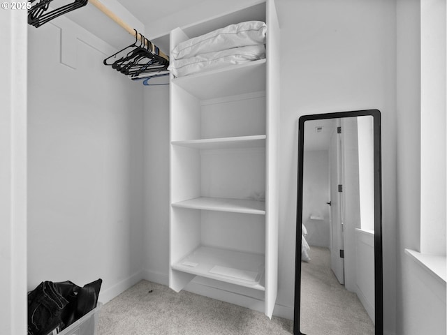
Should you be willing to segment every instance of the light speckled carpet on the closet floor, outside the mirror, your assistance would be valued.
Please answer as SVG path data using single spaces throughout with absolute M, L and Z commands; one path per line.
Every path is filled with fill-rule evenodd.
M 140 281 L 101 308 L 97 335 L 290 335 L 292 329 L 291 320 Z

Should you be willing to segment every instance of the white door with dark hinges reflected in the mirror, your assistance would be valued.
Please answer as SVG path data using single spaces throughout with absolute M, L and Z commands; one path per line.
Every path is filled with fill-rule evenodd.
M 329 175 L 330 175 L 330 267 L 340 284 L 344 284 L 344 260 L 340 257 L 343 250 L 343 222 L 342 222 L 342 153 L 341 137 L 337 128 L 332 133 L 329 149 Z

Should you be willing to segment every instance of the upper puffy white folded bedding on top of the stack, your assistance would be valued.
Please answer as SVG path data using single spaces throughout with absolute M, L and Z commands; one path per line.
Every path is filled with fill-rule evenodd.
M 179 43 L 170 52 L 170 59 L 184 59 L 198 54 L 232 49 L 233 47 L 265 44 L 265 31 L 267 31 L 267 26 L 261 21 L 231 24 Z

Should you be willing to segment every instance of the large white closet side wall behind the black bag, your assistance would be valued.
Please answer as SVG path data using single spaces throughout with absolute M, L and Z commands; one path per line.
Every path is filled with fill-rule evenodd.
M 142 85 L 62 19 L 29 26 L 28 288 L 102 278 L 108 301 L 142 277 Z

